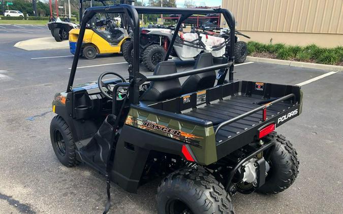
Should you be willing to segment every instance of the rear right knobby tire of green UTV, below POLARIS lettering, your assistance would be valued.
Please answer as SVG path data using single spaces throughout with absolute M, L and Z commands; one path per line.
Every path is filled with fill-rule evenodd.
M 257 191 L 264 194 L 277 194 L 294 183 L 299 172 L 299 161 L 293 145 L 283 135 L 272 132 L 265 139 L 274 141 L 275 148 L 268 162 L 270 170 L 266 183 Z

